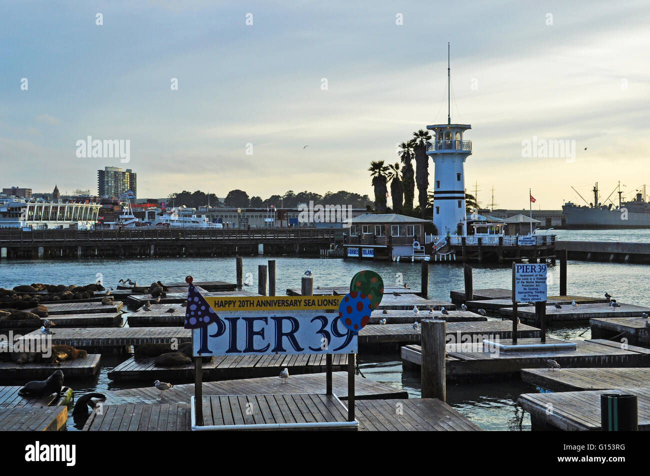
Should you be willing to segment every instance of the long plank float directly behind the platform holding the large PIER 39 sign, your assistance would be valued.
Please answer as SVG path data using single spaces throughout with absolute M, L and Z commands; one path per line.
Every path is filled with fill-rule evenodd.
M 347 372 L 333 372 L 331 383 L 333 392 L 340 399 L 348 398 Z M 291 375 L 284 384 L 278 376 L 203 382 L 203 395 L 287 395 L 324 394 L 325 392 L 325 373 Z M 171 390 L 164 392 L 162 399 L 160 390 L 153 385 L 144 388 L 112 390 L 110 394 L 116 399 L 115 401 L 120 403 L 187 403 L 194 395 L 194 384 L 175 385 Z M 354 377 L 354 397 L 356 399 L 408 398 L 408 392 L 356 375 Z

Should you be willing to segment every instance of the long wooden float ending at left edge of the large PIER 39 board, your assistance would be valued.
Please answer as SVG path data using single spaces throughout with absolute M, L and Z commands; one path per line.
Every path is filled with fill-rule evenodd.
M 40 331 L 31 332 L 20 340 L 31 336 L 40 336 Z M 55 329 L 52 337 L 53 345 L 72 345 L 79 349 L 115 349 L 129 345 L 159 344 L 172 342 L 178 344 L 192 340 L 191 329 L 183 327 L 90 327 L 88 329 Z

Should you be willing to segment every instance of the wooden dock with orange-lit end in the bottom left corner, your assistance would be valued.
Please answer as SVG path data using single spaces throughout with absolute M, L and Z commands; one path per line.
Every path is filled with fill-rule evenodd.
M 0 407 L 0 431 L 59 431 L 66 426 L 68 407 Z

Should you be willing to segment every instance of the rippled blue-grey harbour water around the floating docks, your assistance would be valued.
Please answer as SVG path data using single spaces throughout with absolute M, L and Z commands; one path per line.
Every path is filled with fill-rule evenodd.
M 564 235 L 564 236 L 562 236 Z M 560 238 L 561 237 L 561 238 Z M 610 240 L 650 242 L 650 230 L 558 230 L 558 239 Z M 341 286 L 361 269 L 373 269 L 382 275 L 385 283 L 408 284 L 418 289 L 421 266 L 410 262 L 359 262 L 358 260 L 294 258 L 294 257 L 246 257 L 244 280 L 251 282 L 250 290 L 257 290 L 257 265 L 267 264 L 269 258 L 276 260 L 277 293 L 287 288 L 300 288 L 305 269 L 311 269 L 315 286 Z M 559 294 L 559 265 L 549 265 L 549 295 Z M 250 273 L 250 274 L 248 274 Z M 192 275 L 195 281 L 230 281 L 235 276 L 235 258 L 142 258 L 132 260 L 83 259 L 83 260 L 2 260 L 0 261 L 0 286 L 12 288 L 32 282 L 87 284 L 103 278 L 107 286 L 115 286 L 124 278 L 136 279 L 147 285 L 153 281 L 184 281 Z M 510 288 L 510 266 L 474 266 L 474 288 Z M 603 295 L 609 292 L 623 303 L 650 305 L 650 267 L 642 264 L 590 263 L 569 261 L 567 290 L 575 295 Z M 429 295 L 432 299 L 449 300 L 450 290 L 463 289 L 463 268 L 460 263 L 430 265 Z M 125 316 L 126 318 L 126 316 Z M 587 327 L 552 327 L 549 336 L 564 339 L 590 338 Z M 586 332 L 585 332 L 586 331 Z M 584 334 L 583 334 L 584 332 Z M 73 382 L 75 394 L 86 392 L 134 388 L 147 382 L 109 381 L 107 374 L 122 362 L 123 357 L 102 356 L 101 370 L 94 381 Z M 420 379 L 417 373 L 402 371 L 398 352 L 361 353 L 359 368 L 372 381 L 382 382 L 393 388 L 403 389 L 411 397 L 419 397 Z M 24 382 L 4 382 L 23 384 Z M 535 392 L 533 386 L 521 381 L 472 382 L 450 384 L 447 401 L 452 407 L 486 430 L 519 431 L 530 429 L 530 417 L 525 414 L 521 427 L 521 408 L 517 397 Z M 70 408 L 72 410 L 72 408 Z M 70 416 L 68 430 L 76 430 Z

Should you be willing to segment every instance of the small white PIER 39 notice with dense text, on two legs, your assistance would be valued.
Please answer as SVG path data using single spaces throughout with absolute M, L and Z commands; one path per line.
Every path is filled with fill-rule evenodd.
M 517 340 L 517 303 L 535 303 L 536 314 L 540 314 L 540 316 L 539 310 L 546 309 L 547 271 L 548 267 L 543 263 L 512 264 L 513 344 L 516 344 Z M 545 322 L 540 322 L 542 327 L 541 342 L 546 342 L 545 324 Z

